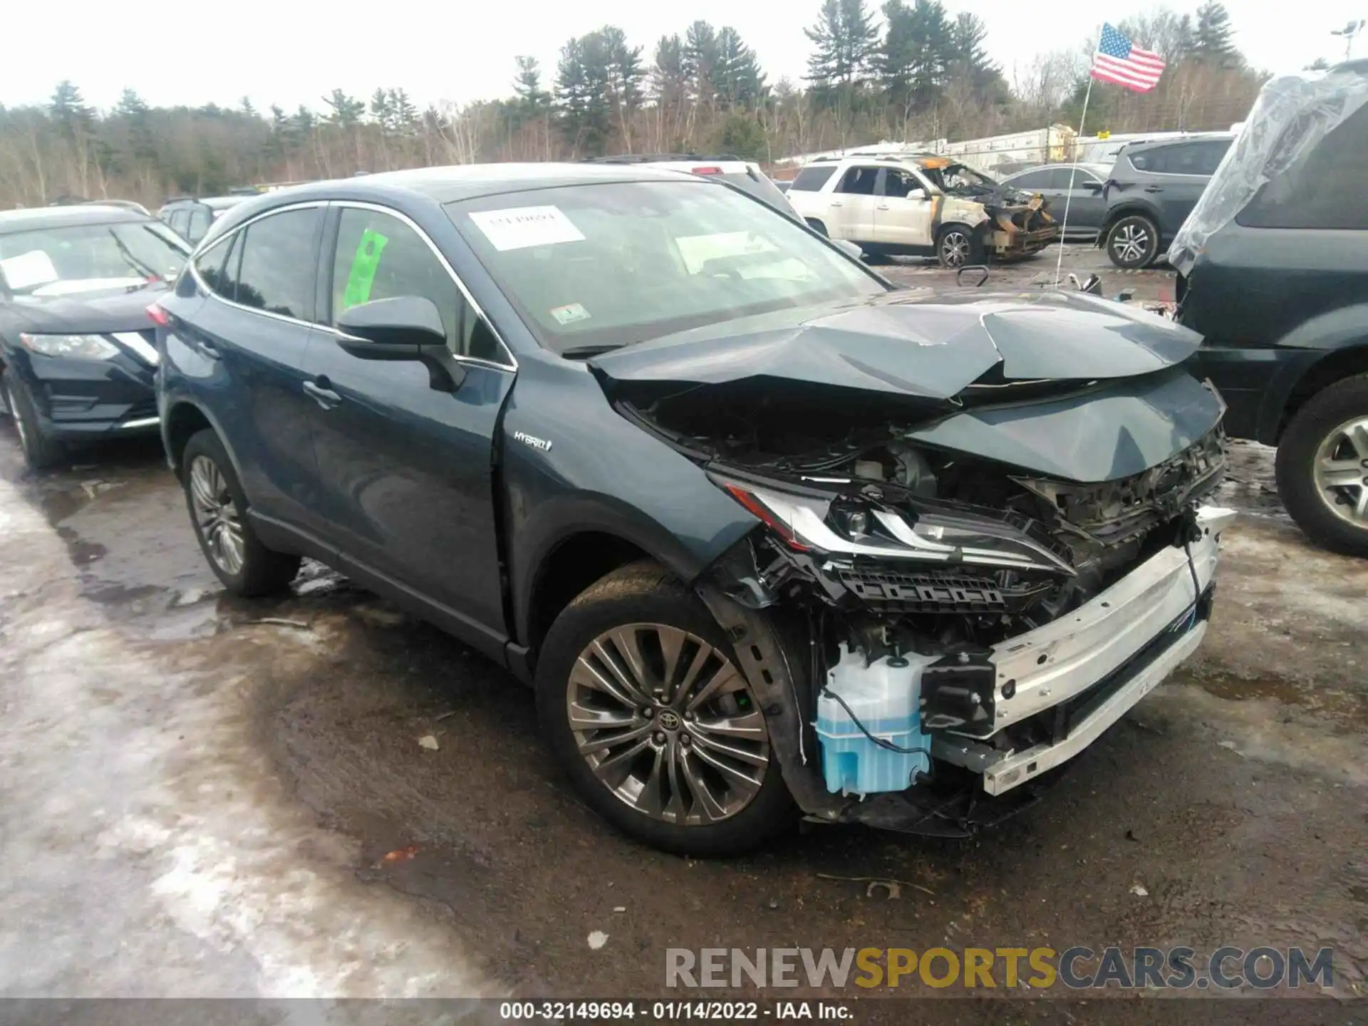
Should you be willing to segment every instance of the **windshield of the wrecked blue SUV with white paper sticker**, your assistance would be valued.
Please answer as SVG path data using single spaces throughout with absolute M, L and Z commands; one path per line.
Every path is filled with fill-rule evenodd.
M 789 218 L 702 181 L 487 196 L 447 213 L 557 353 L 886 290 Z

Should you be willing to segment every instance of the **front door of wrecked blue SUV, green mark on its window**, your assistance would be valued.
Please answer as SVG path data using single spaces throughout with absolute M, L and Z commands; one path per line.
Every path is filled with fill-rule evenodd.
M 492 460 L 512 360 L 416 227 L 371 208 L 334 216 L 330 321 L 371 300 L 432 300 L 465 378 L 439 390 L 423 364 L 361 360 L 320 330 L 305 371 L 331 540 L 345 561 L 503 636 Z

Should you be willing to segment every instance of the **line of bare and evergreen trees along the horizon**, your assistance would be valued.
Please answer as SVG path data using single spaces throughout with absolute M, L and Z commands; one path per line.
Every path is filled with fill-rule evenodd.
M 1152 93 L 1096 83 L 1083 130 L 1224 129 L 1265 75 L 1219 0 L 1123 22 L 1168 68 Z M 547 71 L 518 56 L 502 100 L 419 107 L 398 86 L 341 89 L 317 107 L 150 107 L 134 89 L 107 111 L 73 82 L 45 105 L 0 105 L 0 208 L 63 197 L 209 196 L 253 182 L 479 160 L 726 152 L 773 161 L 880 140 L 960 140 L 1078 127 L 1096 38 L 1004 68 L 988 27 L 941 0 L 821 0 L 799 81 L 770 81 L 731 26 L 695 21 L 646 52 L 616 26 L 568 40 Z

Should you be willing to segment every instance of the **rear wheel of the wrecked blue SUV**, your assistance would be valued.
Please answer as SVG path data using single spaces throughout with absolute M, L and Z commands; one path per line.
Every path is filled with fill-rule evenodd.
M 285 591 L 300 557 L 267 549 L 248 520 L 248 499 L 222 439 L 205 428 L 181 457 L 190 525 L 209 569 L 233 595 L 257 598 Z

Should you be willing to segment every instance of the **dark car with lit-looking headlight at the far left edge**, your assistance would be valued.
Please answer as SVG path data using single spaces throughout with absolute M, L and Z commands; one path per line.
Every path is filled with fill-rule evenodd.
M 189 246 L 122 207 L 0 213 L 0 394 L 34 469 L 68 443 L 156 432 L 148 305 Z

